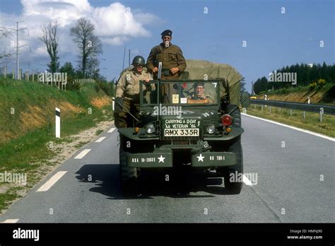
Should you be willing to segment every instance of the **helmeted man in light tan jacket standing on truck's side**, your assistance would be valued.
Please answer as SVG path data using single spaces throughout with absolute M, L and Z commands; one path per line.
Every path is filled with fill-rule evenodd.
M 134 68 L 126 71 L 117 81 L 115 93 L 114 122 L 117 128 L 132 127 L 132 117 L 126 112 L 139 118 L 139 81 L 149 82 L 152 80 L 151 74 L 143 71 L 146 61 L 141 56 L 136 56 L 131 63 Z M 119 106 L 122 105 L 124 108 Z

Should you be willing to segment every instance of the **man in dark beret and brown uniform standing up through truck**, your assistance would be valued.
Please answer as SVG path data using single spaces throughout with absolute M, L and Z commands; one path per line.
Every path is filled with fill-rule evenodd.
M 180 74 L 186 69 L 186 61 L 182 55 L 182 49 L 177 45 L 172 45 L 171 30 L 165 30 L 160 35 L 162 35 L 163 42 L 151 49 L 146 66 L 152 71 L 153 78 L 157 78 L 158 63 L 162 62 L 161 79 L 178 79 Z M 161 86 L 161 95 L 165 98 L 165 101 L 170 99 L 171 89 L 167 84 Z

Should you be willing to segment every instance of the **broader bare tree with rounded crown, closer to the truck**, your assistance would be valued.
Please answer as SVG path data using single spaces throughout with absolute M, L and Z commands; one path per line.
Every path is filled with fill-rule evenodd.
M 98 66 L 98 59 L 95 58 L 102 53 L 102 44 L 99 37 L 93 34 L 94 29 L 94 25 L 85 18 L 80 18 L 76 22 L 76 26 L 71 28 L 71 35 L 80 51 L 81 65 L 79 69 L 83 77 L 87 75 L 90 61 L 93 61 L 94 66 Z

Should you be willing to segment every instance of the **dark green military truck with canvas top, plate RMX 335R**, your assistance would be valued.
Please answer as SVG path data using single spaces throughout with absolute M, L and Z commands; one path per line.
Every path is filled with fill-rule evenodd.
M 140 81 L 141 117 L 134 119 L 134 127 L 119 129 L 122 192 L 136 193 L 144 170 L 187 165 L 216 170 L 225 189 L 239 194 L 242 182 L 236 180 L 243 172 L 244 131 L 241 79 L 227 64 L 188 60 L 179 80 Z M 162 86 L 168 88 L 165 95 Z M 201 97 L 196 96 L 199 93 Z M 249 95 L 242 95 L 242 101 L 247 107 Z

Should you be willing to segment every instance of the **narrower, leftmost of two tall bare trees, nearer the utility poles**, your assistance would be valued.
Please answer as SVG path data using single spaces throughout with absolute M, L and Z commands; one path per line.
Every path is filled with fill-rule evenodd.
M 57 28 L 58 22 L 55 21 L 53 23 L 52 21 L 50 21 L 42 27 L 42 36 L 40 37 L 40 40 L 47 47 L 47 53 L 49 54 L 49 57 L 51 59 L 50 63 L 47 66 L 49 66 L 49 71 L 52 73 L 56 73 L 59 70 L 59 57 L 57 56 Z

